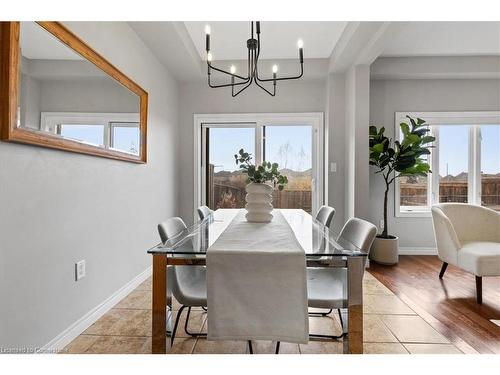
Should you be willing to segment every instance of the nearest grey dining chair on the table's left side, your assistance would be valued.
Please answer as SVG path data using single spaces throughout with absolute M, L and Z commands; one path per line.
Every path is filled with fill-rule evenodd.
M 158 224 L 158 233 L 162 242 L 168 241 L 186 229 L 186 224 L 180 217 L 172 217 Z M 181 308 L 177 312 L 174 328 L 172 330 L 171 342 L 173 344 L 177 326 L 182 312 L 187 307 L 186 322 L 184 331 L 190 336 L 206 336 L 204 333 L 190 332 L 188 329 L 189 316 L 192 307 L 207 306 L 207 276 L 205 266 L 169 266 L 168 268 L 167 288 L 172 285 L 172 294 L 175 299 L 181 304 Z M 167 297 L 168 298 L 168 297 Z

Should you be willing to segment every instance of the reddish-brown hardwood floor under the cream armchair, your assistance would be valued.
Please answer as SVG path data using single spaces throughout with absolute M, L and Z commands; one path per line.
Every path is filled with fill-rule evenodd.
M 400 256 L 396 266 L 371 263 L 369 272 L 464 352 L 500 353 L 500 277 L 483 278 L 476 303 L 474 275 L 449 265 L 442 280 L 436 256 Z

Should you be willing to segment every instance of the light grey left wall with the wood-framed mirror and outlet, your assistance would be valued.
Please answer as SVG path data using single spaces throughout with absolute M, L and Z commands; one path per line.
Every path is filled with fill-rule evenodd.
M 0 142 L 0 347 L 46 344 L 147 269 L 178 210 L 175 80 L 126 23 L 67 25 L 148 91 L 148 163 Z

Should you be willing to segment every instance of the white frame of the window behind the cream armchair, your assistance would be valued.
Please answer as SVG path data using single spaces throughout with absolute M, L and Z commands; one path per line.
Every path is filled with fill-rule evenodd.
M 468 150 L 468 203 L 481 205 L 481 125 L 500 124 L 500 111 L 482 112 L 396 112 L 394 116 L 394 139 L 400 137 L 401 122 L 406 116 L 422 118 L 431 126 L 431 134 L 436 137 L 435 148 L 431 149 L 429 162 L 432 171 L 427 179 L 427 206 L 400 206 L 400 182 L 395 180 L 394 215 L 395 217 L 431 217 L 431 207 L 439 203 L 439 127 L 446 125 L 469 126 Z

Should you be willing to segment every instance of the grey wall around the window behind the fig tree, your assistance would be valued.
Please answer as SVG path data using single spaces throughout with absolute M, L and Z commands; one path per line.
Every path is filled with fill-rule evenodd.
M 404 111 L 498 111 L 500 80 L 372 80 L 370 124 L 385 126 L 394 136 L 394 113 Z M 370 174 L 370 219 L 383 217 L 384 184 L 379 175 Z M 435 248 L 431 218 L 396 218 L 394 191 L 389 195 L 389 229 L 400 237 L 403 248 Z

